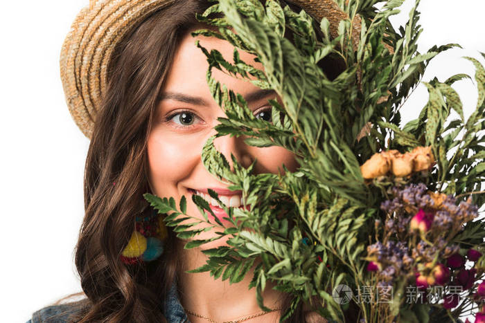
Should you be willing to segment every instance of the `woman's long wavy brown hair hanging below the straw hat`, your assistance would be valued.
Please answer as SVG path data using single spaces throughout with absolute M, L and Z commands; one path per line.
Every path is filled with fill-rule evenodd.
M 74 321 L 166 322 L 166 294 L 179 266 L 173 232 L 157 261 L 125 266 L 119 257 L 134 231 L 134 217 L 147 208 L 146 146 L 157 98 L 179 42 L 200 26 L 195 12 L 209 6 L 209 1 L 174 1 L 116 46 L 85 166 L 85 218 L 75 258 L 87 299 L 78 302 Z M 335 64 L 322 64 L 335 74 Z M 291 301 L 288 295 L 283 308 Z M 288 322 L 304 322 L 302 306 Z

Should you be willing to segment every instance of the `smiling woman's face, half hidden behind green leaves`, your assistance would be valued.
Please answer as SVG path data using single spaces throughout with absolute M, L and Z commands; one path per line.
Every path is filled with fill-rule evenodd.
M 206 82 L 209 65 L 205 55 L 195 46 L 195 39 L 199 39 L 200 44 L 208 50 L 219 50 L 227 61 L 232 61 L 234 48 L 227 41 L 215 37 L 194 38 L 190 34 L 182 39 L 162 89 L 157 116 L 148 138 L 148 164 L 150 184 L 154 193 L 160 197 L 173 196 L 177 205 L 182 196 L 186 196 L 187 214 L 203 219 L 192 201 L 192 194 L 207 194 L 207 189 L 211 188 L 218 192 L 219 198 L 222 202 L 225 201 L 226 205 L 229 206 L 231 203 L 231 206 L 237 206 L 240 203 L 240 193 L 227 190 L 230 185 L 219 181 L 202 164 L 202 147 L 209 137 L 215 135 L 214 126 L 219 123 L 217 118 L 227 116 L 209 91 Z M 240 57 L 248 64 L 263 69 L 261 63 L 254 63 L 253 55 L 240 52 Z M 275 93 L 263 91 L 247 80 L 238 80 L 216 69 L 213 69 L 213 77 L 221 84 L 226 84 L 229 89 L 243 95 L 255 116 L 265 120 L 271 118 L 271 105 L 268 100 L 275 99 Z M 224 154 L 231 167 L 230 156 L 233 154 L 244 167 L 249 166 L 257 158 L 254 167 L 256 174 L 283 173 L 283 164 L 292 172 L 297 169 L 294 154 L 287 149 L 252 147 L 245 144 L 245 138 L 222 136 L 214 140 L 215 148 Z M 210 199 L 204 199 L 210 202 Z M 215 201 L 214 204 L 217 205 Z M 222 216 L 225 216 L 223 210 L 218 207 L 211 208 L 218 219 L 222 220 Z M 227 221 L 222 223 L 229 225 Z M 197 236 L 197 239 L 212 237 L 214 232 L 203 234 Z

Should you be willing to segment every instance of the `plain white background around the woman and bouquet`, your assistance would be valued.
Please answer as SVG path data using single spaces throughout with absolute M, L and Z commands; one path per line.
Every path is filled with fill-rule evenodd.
M 73 19 L 87 4 L 3 1 L 0 8 L 1 322 L 25 322 L 33 311 L 80 291 L 73 248 L 84 210 L 89 140 L 64 102 L 58 59 Z M 421 12 L 421 52 L 433 44 L 458 42 L 465 48 L 434 59 L 425 80 L 473 75 L 472 64 L 461 57 L 484 62 L 478 53 L 485 52 L 484 1 L 423 0 Z M 406 20 L 407 13 L 394 22 Z M 455 89 L 465 116 L 470 116 L 477 100 L 475 85 L 461 81 Z M 402 109 L 405 121 L 416 118 L 426 100 L 421 86 Z

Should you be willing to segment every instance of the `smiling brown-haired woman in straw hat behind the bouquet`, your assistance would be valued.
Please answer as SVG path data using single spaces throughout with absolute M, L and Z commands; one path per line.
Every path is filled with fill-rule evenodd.
M 333 30 L 345 17 L 332 0 L 290 4 L 298 3 L 316 16 L 326 15 Z M 130 237 L 141 231 L 136 217 L 150 217 L 153 212 L 144 202 L 146 192 L 178 201 L 186 196 L 187 213 L 200 219 L 191 194 L 204 196 L 208 188 L 224 196 L 227 205 L 240 205 L 240 194 L 227 190 L 229 183 L 214 178 L 200 158 L 204 142 L 215 134 L 217 118 L 225 116 L 206 83 L 206 57 L 191 36 L 191 31 L 207 27 L 195 19 L 195 13 L 211 4 L 91 1 L 74 22 L 62 50 L 61 73 L 73 118 L 91 138 L 85 219 L 76 247 L 76 267 L 87 299 L 44 308 L 32 322 L 277 322 L 282 309 L 289 306 L 291 296 L 267 284 L 263 298 L 272 311 L 262 312 L 254 288 L 247 288 L 251 273 L 230 286 L 209 273 L 186 273 L 204 264 L 201 249 L 220 246 L 221 239 L 184 250 L 184 241 L 168 230 L 160 257 L 132 261 L 134 255 L 127 252 Z M 197 39 L 226 59 L 233 54 L 227 41 Z M 254 64 L 252 55 L 240 55 Z M 337 73 L 331 62 L 323 64 L 330 66 L 329 77 Z M 221 71 L 213 76 L 242 94 L 257 118 L 270 121 L 268 100 L 276 98 L 272 91 Z M 282 165 L 292 172 L 297 169 L 290 151 L 252 147 L 243 140 L 223 136 L 214 145 L 227 160 L 233 154 L 245 167 L 256 158 L 256 173 L 276 174 Z M 203 234 L 214 237 L 216 233 Z M 161 249 L 155 251 L 159 254 Z M 326 322 L 303 306 L 290 318 L 290 322 L 305 320 Z

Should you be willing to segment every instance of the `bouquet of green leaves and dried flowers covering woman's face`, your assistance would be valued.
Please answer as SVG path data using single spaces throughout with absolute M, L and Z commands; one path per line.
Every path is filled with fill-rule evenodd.
M 485 225 L 479 208 L 485 195 L 485 69 L 476 69 L 477 108 L 465 120 L 452 85 L 424 82 L 430 99 L 416 119 L 401 124 L 400 108 L 421 82 L 433 57 L 457 47 L 434 46 L 421 54 L 416 6 L 405 26 L 395 30 L 389 17 L 404 0 L 335 0 L 348 19 L 338 37 L 329 22 L 319 25 L 276 0 L 219 0 L 198 19 L 215 30 L 193 35 L 226 39 L 256 55 L 264 71 L 243 62 L 238 52 L 227 62 L 217 50 L 200 46 L 209 62 L 207 81 L 228 118 L 219 118 L 217 135 L 206 142 L 206 169 L 231 190 L 243 191 L 248 208 L 218 201 L 233 224 L 220 231 L 227 246 L 204 250 L 215 279 L 240 282 L 256 264 L 250 288 L 265 309 L 261 290 L 267 281 L 338 322 L 352 302 L 361 322 L 455 321 L 476 313 L 485 322 Z M 214 15 L 222 12 L 223 15 Z M 358 24 L 360 34 L 355 34 Z M 291 35 L 291 37 L 285 37 Z M 484 54 L 482 54 L 484 55 Z M 320 63 L 332 58 L 344 68 L 328 77 Z M 485 57 L 485 55 L 484 55 Z M 272 104 L 272 122 L 255 118 L 241 95 L 211 76 L 213 68 L 247 78 L 283 100 Z M 364 133 L 361 133 L 364 129 Z M 256 147 L 278 145 L 292 151 L 297 172 L 253 174 L 233 160 L 233 169 L 213 146 L 218 136 L 241 136 Z M 197 239 L 200 223 L 185 214 L 186 200 L 145 194 L 165 216 L 185 248 Z M 208 201 L 193 195 L 206 223 L 222 227 Z

